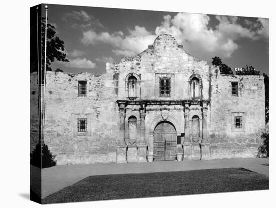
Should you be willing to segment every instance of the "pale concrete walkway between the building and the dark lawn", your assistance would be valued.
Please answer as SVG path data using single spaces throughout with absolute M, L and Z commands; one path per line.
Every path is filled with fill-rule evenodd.
M 42 169 L 42 198 L 91 175 L 150 173 L 243 167 L 269 176 L 267 158 L 162 161 L 152 163 L 58 165 Z

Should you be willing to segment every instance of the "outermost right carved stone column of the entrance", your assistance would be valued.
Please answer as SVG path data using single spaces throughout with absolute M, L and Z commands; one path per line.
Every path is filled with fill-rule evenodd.
M 201 141 L 201 159 L 207 160 L 210 157 L 210 147 L 208 141 L 207 129 L 207 103 L 203 103 L 202 107 L 202 141 Z

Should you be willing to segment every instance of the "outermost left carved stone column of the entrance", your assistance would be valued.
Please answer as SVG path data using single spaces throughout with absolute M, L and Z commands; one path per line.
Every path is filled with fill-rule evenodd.
M 120 105 L 120 134 L 117 146 L 117 163 L 126 163 L 126 142 L 125 142 L 125 109 Z

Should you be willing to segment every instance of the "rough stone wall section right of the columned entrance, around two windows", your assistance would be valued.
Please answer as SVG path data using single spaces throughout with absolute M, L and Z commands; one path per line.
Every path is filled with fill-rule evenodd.
M 238 97 L 231 82 L 238 82 Z M 212 80 L 209 108 L 211 158 L 254 157 L 265 128 L 263 76 L 219 75 Z M 233 128 L 234 116 L 243 117 L 243 129 Z

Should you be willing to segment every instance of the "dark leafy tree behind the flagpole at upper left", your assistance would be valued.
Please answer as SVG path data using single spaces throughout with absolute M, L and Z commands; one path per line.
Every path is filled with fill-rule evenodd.
M 42 50 L 42 68 L 44 68 L 44 43 L 45 43 L 45 18 L 41 21 L 41 47 Z M 66 58 L 64 41 L 55 36 L 55 27 L 47 23 L 47 48 L 46 48 L 46 70 L 52 71 L 50 65 L 56 59 L 58 61 L 69 62 Z

